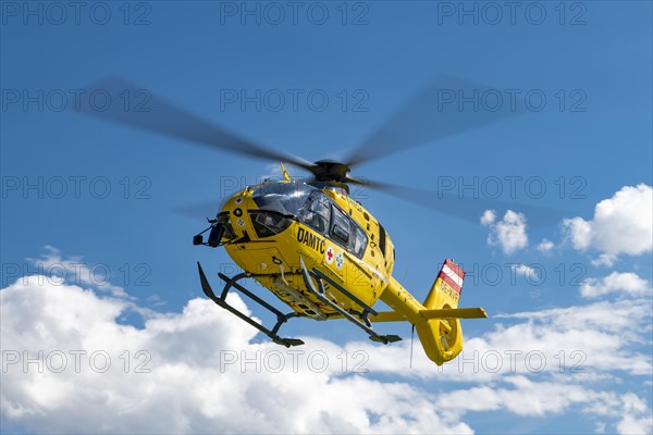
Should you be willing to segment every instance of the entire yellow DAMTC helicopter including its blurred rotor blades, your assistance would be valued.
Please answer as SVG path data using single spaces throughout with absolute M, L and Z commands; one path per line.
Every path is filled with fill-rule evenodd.
M 96 87 L 115 95 L 116 100 L 124 92 L 139 95 L 145 91 L 115 78 L 102 80 Z M 446 92 L 442 92 L 443 89 Z M 304 344 L 300 339 L 280 335 L 281 326 L 293 318 L 317 321 L 346 319 L 364 330 L 370 339 L 383 344 L 401 338 L 379 334 L 373 328 L 374 323 L 407 321 L 417 330 L 427 356 L 441 365 L 463 350 L 460 319 L 486 318 L 485 311 L 481 308 L 458 308 L 465 272 L 451 259 L 444 260 L 423 302 L 406 290 L 392 276 L 395 247 L 387 232 L 378 219 L 349 196 L 349 185 L 397 192 L 398 197 L 408 200 L 412 192 L 419 196 L 420 203 L 429 202 L 424 201 L 424 190 L 355 178 L 350 176 L 350 169 L 518 113 L 514 110 L 465 112 L 458 107 L 442 110 L 442 97 L 446 96 L 446 101 L 451 102 L 451 89 L 458 89 L 459 95 L 470 95 L 489 88 L 459 78 L 438 76 L 356 148 L 346 163 L 332 160 L 312 163 L 261 146 L 149 91 L 148 110 L 128 112 L 111 107 L 97 111 L 87 104 L 81 111 L 211 148 L 282 162 L 281 181 L 263 182 L 236 192 L 224 202 L 217 216 L 209 220 L 210 226 L 193 239 L 194 245 L 223 247 L 244 271 L 235 276 L 219 273 L 224 285 L 217 295 L 198 262 L 202 290 L 218 306 L 286 347 Z M 283 162 L 309 171 L 312 179 L 305 183 L 291 177 Z M 470 214 L 465 210 L 469 201 L 457 199 L 439 195 L 438 200 L 430 204 L 439 211 L 475 222 L 480 216 L 479 210 L 509 206 L 498 200 L 478 200 L 477 209 Z M 208 239 L 205 241 L 207 232 Z M 284 313 L 245 288 L 242 281 L 248 277 L 270 290 L 291 311 Z M 274 314 L 276 323 L 271 327 L 263 326 L 230 306 L 226 296 L 234 289 Z M 383 301 L 391 311 L 378 312 L 373 308 L 378 301 Z

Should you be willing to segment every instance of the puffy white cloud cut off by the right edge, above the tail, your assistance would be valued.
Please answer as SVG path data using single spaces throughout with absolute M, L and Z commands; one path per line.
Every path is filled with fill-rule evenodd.
M 596 204 L 591 221 L 566 219 L 563 226 L 578 250 L 595 248 L 631 256 L 649 252 L 653 249 L 653 189 L 644 184 L 625 186 Z

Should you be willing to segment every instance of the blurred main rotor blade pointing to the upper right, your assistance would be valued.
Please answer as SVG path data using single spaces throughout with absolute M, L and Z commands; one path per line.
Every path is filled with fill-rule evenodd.
M 526 112 L 523 98 L 486 85 L 436 75 L 356 148 L 358 165 Z

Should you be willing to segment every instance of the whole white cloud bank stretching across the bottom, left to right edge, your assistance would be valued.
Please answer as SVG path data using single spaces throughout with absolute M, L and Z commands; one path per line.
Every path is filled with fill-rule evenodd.
M 416 344 L 412 370 L 408 339 L 343 347 L 301 337 L 305 346 L 285 349 L 258 343 L 254 328 L 207 299 L 188 301 L 181 313 L 140 310 L 141 328 L 120 322 L 125 311 L 138 310 L 131 299 L 38 276 L 2 289 L 0 299 L 2 414 L 34 432 L 470 433 L 464 422 L 470 412 L 501 412 L 510 421 L 579 409 L 601 417 L 606 432 L 651 427 L 644 399 L 595 389 L 613 376 L 618 383 L 651 376 L 651 355 L 642 353 L 651 345 L 650 299 L 495 315 L 490 331 L 468 336 L 464 355 L 441 369 Z M 230 302 L 249 313 L 237 296 Z M 12 350 L 16 363 L 8 362 L 16 357 Z M 53 373 L 58 350 L 67 366 Z M 86 352 L 78 372 L 76 350 Z M 106 373 L 89 361 L 98 351 L 111 358 Z M 497 355 L 494 370 L 489 356 Z M 24 370 L 26 357 L 34 361 Z M 359 362 L 369 374 L 354 372 Z M 389 378 L 373 378 L 383 374 Z M 433 382 L 414 382 L 424 378 L 438 380 L 441 394 L 421 389 Z

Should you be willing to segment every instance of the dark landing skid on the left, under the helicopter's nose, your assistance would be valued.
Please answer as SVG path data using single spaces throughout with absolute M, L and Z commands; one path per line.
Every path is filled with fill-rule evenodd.
M 220 297 L 218 297 L 213 293 L 213 289 L 211 288 L 211 285 L 209 284 L 209 281 L 207 279 L 207 276 L 205 275 L 204 270 L 201 269 L 201 265 L 199 264 L 199 262 L 197 262 L 197 269 L 199 270 L 199 281 L 201 283 L 201 289 L 204 290 L 205 295 L 207 295 L 207 297 L 209 299 L 211 299 L 213 302 L 215 302 L 220 307 L 224 308 L 226 311 L 231 312 L 232 314 L 236 315 L 237 318 L 249 323 L 251 326 L 256 327 L 257 330 L 259 330 L 260 332 L 266 334 L 268 337 L 272 338 L 272 341 L 276 343 L 278 345 L 282 345 L 285 347 L 304 345 L 304 341 L 298 338 L 282 338 L 278 335 L 279 330 L 281 328 L 281 325 L 283 325 L 285 322 L 287 322 L 288 319 L 300 318 L 300 316 L 304 316 L 304 314 L 297 313 L 297 312 L 291 312 L 291 313 L 284 314 L 283 312 L 279 311 L 276 308 L 272 307 L 270 303 L 266 302 L 263 299 L 259 298 L 258 296 L 256 296 L 255 294 L 252 294 L 251 291 L 249 291 L 248 289 L 243 287 L 237 282 L 239 279 L 243 279 L 244 277 L 247 277 L 246 273 L 239 273 L 236 276 L 234 276 L 233 278 L 230 278 L 229 276 L 226 276 L 222 273 L 219 273 L 218 276 L 220 276 L 220 278 L 222 281 L 224 281 L 225 284 L 224 284 L 224 288 L 222 289 L 222 294 L 220 295 Z M 233 308 L 232 306 L 226 303 L 226 295 L 229 294 L 229 290 L 232 287 L 238 289 L 243 295 L 247 296 L 249 299 L 254 300 L 255 302 L 257 302 L 258 304 L 260 304 L 261 307 L 263 307 L 264 309 L 270 311 L 272 314 L 276 315 L 276 323 L 274 324 L 274 327 L 272 327 L 272 330 L 268 330 L 266 326 L 255 322 L 249 316 L 243 314 L 241 311 L 236 310 L 235 308 Z

